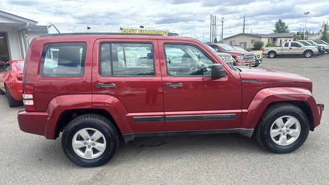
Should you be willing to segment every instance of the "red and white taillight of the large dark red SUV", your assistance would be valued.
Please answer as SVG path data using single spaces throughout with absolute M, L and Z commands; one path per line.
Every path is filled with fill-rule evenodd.
M 33 84 L 23 84 L 23 104 L 25 110 L 35 111 Z

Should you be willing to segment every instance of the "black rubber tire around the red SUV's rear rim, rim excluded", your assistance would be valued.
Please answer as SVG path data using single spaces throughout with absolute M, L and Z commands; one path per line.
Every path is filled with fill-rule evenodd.
M 100 131 L 106 140 L 104 152 L 97 158 L 80 157 L 72 148 L 72 138 L 83 128 L 94 128 Z M 62 136 L 62 149 L 66 157 L 81 167 L 99 167 L 112 159 L 119 146 L 118 132 L 115 125 L 106 117 L 97 114 L 81 115 L 72 120 Z

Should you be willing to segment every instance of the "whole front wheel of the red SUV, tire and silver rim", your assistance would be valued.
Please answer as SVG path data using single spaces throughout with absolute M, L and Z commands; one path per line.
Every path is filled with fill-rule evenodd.
M 257 140 L 272 153 L 293 152 L 305 142 L 309 133 L 309 120 L 298 106 L 275 104 L 266 109 L 258 126 Z

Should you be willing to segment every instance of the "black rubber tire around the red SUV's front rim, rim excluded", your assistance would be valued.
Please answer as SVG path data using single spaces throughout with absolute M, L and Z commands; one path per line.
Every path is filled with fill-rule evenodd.
M 271 125 L 281 116 L 293 116 L 300 125 L 301 132 L 298 138 L 291 144 L 279 145 L 274 142 L 270 136 Z M 256 137 L 258 142 L 268 151 L 277 154 L 293 152 L 305 142 L 309 133 L 309 120 L 301 108 L 289 103 L 278 103 L 268 107 L 256 128 Z

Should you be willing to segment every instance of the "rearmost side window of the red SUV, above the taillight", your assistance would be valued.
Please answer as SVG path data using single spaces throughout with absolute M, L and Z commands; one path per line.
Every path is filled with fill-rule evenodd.
M 42 51 L 41 77 L 82 77 L 86 55 L 85 43 L 51 43 Z

